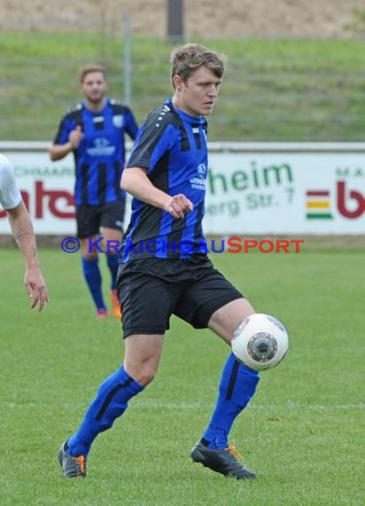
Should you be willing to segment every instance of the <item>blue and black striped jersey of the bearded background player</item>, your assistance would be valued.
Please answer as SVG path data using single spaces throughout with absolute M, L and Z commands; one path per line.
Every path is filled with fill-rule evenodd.
M 97 112 L 78 104 L 63 117 L 54 144 L 66 144 L 77 125 L 81 125 L 84 137 L 74 150 L 75 204 L 101 205 L 124 198 L 120 177 L 125 134 L 134 140 L 138 130 L 132 111 L 111 99 L 106 99 L 105 107 Z

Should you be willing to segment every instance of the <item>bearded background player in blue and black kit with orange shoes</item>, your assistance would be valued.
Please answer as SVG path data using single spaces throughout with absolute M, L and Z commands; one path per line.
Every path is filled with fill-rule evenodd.
M 92 247 L 103 228 L 104 251 L 112 274 L 113 313 L 120 318 L 116 291 L 118 255 L 113 245 L 120 243 L 124 220 L 125 193 L 120 189 L 120 176 L 125 161 L 125 134 L 134 140 L 138 128 L 129 107 L 105 97 L 104 67 L 83 67 L 80 83 L 85 99 L 63 117 L 50 147 L 50 158 L 55 161 L 74 154 L 74 203 L 77 237 L 82 246 L 82 271 L 97 308 L 96 317 L 105 318 L 108 313 L 97 249 Z

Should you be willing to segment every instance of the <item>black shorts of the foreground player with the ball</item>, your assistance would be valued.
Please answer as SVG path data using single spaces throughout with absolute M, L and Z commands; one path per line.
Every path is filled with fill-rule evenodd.
M 144 258 L 120 265 L 118 291 L 123 336 L 165 334 L 175 314 L 207 328 L 212 314 L 243 295 L 206 256 L 189 260 Z

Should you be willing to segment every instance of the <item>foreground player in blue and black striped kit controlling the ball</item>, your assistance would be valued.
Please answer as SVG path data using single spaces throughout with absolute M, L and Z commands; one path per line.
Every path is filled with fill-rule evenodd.
M 237 325 L 253 312 L 214 269 L 202 231 L 205 116 L 218 97 L 224 57 L 190 43 L 172 52 L 171 64 L 174 97 L 147 117 L 121 179 L 134 196 L 118 280 L 124 362 L 101 384 L 79 429 L 60 448 L 59 462 L 70 478 L 86 476 L 86 458 L 97 434 L 112 427 L 129 399 L 153 380 L 172 314 L 194 328 L 211 328 L 230 344 Z M 191 451 L 194 462 L 225 476 L 255 477 L 238 462 L 229 431 L 258 381 L 258 373 L 230 352 L 213 415 Z

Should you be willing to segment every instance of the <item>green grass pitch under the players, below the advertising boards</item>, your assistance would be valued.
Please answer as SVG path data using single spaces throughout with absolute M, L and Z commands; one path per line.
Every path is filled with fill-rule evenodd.
M 89 455 L 61 475 L 58 447 L 122 360 L 117 320 L 95 321 L 80 256 L 41 249 L 50 304 L 28 309 L 19 250 L 0 252 L 0 503 L 294 506 L 363 504 L 364 253 L 222 254 L 214 263 L 258 312 L 283 320 L 290 350 L 261 374 L 231 434 L 250 482 L 193 465 L 227 346 L 173 319 L 158 376 Z M 103 265 L 105 294 L 108 273 Z

